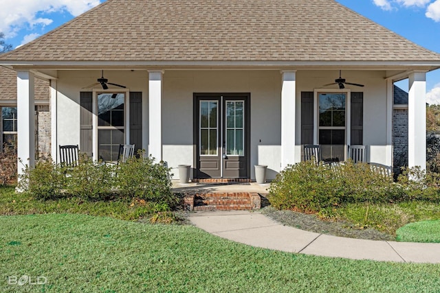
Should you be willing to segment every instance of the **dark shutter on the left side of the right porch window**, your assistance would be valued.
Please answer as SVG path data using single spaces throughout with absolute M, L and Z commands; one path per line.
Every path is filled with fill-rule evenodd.
M 301 92 L 301 144 L 314 143 L 314 92 Z

